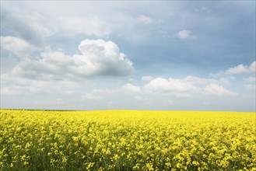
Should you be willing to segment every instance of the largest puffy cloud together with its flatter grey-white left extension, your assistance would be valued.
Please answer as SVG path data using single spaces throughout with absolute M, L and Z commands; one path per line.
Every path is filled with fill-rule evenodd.
M 12 69 L 13 75 L 30 79 L 79 79 L 97 75 L 124 76 L 134 72 L 132 61 L 120 53 L 117 44 L 104 40 L 83 40 L 81 54 L 43 51 L 39 59 L 26 58 Z

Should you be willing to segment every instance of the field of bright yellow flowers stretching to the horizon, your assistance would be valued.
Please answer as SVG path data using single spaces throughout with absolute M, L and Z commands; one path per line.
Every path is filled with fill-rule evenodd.
M 0 110 L 0 170 L 256 170 L 255 113 Z

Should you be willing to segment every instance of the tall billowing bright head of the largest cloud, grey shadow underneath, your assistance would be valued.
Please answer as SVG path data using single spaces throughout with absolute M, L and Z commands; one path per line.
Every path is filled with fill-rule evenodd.
M 112 41 L 83 40 L 79 50 L 82 55 L 74 55 L 75 61 L 78 61 L 76 65 L 79 65 L 78 72 L 114 76 L 129 75 L 134 72 L 132 61 L 125 58 L 125 54 L 120 53 L 117 44 Z

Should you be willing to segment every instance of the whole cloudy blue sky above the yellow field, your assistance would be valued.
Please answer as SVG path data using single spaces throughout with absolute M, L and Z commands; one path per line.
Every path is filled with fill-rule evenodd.
M 1 108 L 255 111 L 255 1 L 1 1 Z

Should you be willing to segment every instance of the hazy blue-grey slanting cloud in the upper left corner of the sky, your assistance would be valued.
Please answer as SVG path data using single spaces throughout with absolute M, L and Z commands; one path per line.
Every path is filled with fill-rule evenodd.
M 12 33 L 12 36 L 20 37 L 37 47 L 44 45 L 45 38 L 53 35 L 52 30 L 47 27 L 49 19 L 38 12 L 16 8 L 15 5 L 5 5 L 1 10 L 3 33 Z

